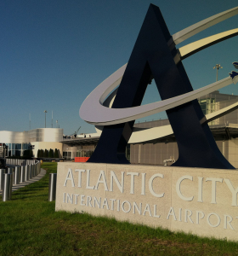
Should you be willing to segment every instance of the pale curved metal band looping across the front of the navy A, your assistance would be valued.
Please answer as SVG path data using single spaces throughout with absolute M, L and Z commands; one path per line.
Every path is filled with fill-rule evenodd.
M 82 103 L 80 116 L 82 119 L 92 125 L 116 125 L 125 123 L 134 119 L 143 118 L 154 113 L 160 113 L 170 108 L 178 107 L 186 102 L 191 102 L 198 97 L 223 88 L 233 83 L 230 77 L 222 79 L 216 83 L 209 84 L 197 90 L 190 91 L 181 96 L 176 96 L 161 102 L 153 102 L 134 108 L 106 108 L 103 106 L 105 97 L 120 84 L 122 72 L 126 65 L 119 68 L 108 79 L 92 91 L 92 93 Z

